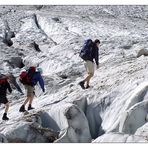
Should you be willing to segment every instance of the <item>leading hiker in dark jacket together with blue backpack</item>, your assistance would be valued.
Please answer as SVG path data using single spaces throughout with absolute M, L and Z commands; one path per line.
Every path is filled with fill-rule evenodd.
M 96 68 L 99 68 L 99 45 L 100 40 L 96 39 L 93 42 L 91 39 L 88 39 L 80 52 L 80 57 L 85 61 L 84 65 L 87 70 L 86 78 L 79 82 L 82 89 L 88 89 L 90 87 L 90 79 L 93 77 L 95 71 L 94 59 Z

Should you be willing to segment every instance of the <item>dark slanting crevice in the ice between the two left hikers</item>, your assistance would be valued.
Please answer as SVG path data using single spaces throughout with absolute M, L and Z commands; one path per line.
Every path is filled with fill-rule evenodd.
M 12 84 L 20 93 L 21 95 L 24 95 L 23 91 L 21 90 L 20 86 L 18 85 L 15 76 L 10 72 L 6 75 L 10 84 Z

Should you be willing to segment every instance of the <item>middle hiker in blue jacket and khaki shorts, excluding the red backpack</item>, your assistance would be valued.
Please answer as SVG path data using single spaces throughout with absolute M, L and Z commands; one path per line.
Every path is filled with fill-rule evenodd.
M 32 107 L 32 101 L 35 95 L 35 85 L 39 82 L 40 87 L 42 89 L 43 92 L 45 92 L 45 88 L 44 88 L 44 80 L 41 76 L 42 74 L 42 69 L 38 68 L 37 72 L 34 72 L 33 78 L 32 78 L 32 84 L 25 84 L 25 89 L 27 91 L 27 99 L 25 100 L 25 102 L 23 103 L 23 105 L 20 107 L 19 112 L 25 112 L 25 105 L 29 102 L 29 106 L 28 106 L 28 110 L 34 109 Z

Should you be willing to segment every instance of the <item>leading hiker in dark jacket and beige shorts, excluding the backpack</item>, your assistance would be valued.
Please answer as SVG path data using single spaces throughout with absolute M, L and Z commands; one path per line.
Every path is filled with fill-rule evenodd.
M 96 63 L 96 68 L 99 68 L 99 45 L 100 45 L 100 41 L 98 39 L 96 39 L 94 41 L 94 44 L 92 46 L 92 50 L 91 50 L 91 56 L 89 57 L 88 60 L 85 61 L 85 68 L 87 70 L 87 76 L 84 80 L 82 80 L 81 82 L 79 82 L 79 85 L 83 88 L 83 89 L 87 89 L 90 87 L 89 83 L 90 83 L 90 79 L 93 77 L 94 72 L 95 72 L 95 65 L 94 65 L 94 60 Z M 85 82 L 86 82 L 86 87 L 85 87 Z

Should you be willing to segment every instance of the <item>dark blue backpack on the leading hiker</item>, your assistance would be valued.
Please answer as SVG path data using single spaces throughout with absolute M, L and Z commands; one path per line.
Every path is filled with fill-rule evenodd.
M 91 39 L 87 39 L 84 42 L 84 45 L 80 51 L 79 56 L 84 60 L 89 60 L 91 58 L 93 41 Z

